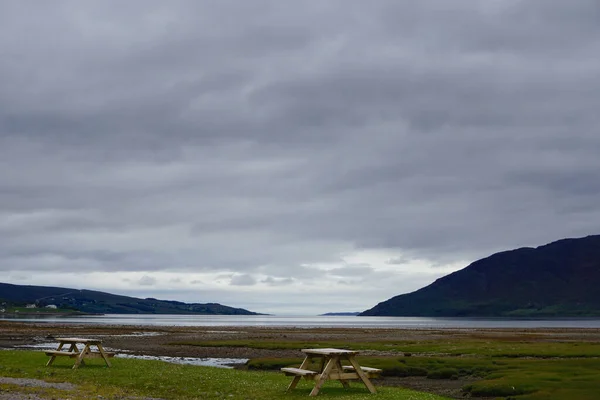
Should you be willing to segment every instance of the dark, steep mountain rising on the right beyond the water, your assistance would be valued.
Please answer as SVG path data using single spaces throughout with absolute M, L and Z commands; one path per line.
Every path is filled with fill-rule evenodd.
M 600 235 L 493 254 L 361 316 L 600 316 Z

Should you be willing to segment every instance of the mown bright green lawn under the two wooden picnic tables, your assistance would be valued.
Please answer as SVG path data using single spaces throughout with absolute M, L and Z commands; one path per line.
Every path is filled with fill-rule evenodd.
M 33 392 L 47 398 L 122 399 L 126 397 L 158 397 L 165 399 L 300 399 L 306 398 L 314 383 L 302 380 L 298 387 L 285 393 L 291 381 L 279 372 L 239 371 L 222 368 L 169 364 L 160 361 L 113 358 L 112 368 L 101 359 L 71 369 L 73 361 L 57 359 L 45 367 L 48 357 L 36 351 L 0 351 L 0 376 L 43 379 L 49 382 L 71 382 L 74 392 L 57 389 L 23 388 L 0 385 L 0 390 Z M 392 387 L 378 387 L 379 400 L 441 400 L 428 393 Z M 326 399 L 373 399 L 367 389 L 352 383 L 344 389 L 339 382 L 327 382 L 319 393 Z

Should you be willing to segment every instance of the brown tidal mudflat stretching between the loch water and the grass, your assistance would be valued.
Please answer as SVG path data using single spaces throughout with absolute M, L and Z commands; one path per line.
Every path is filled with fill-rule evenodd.
M 381 341 L 430 342 L 438 340 L 501 340 L 536 342 L 600 342 L 598 328 L 288 328 L 288 327 L 193 327 L 59 324 L 0 321 L 0 347 L 13 348 L 51 342 L 55 337 L 99 338 L 105 347 L 130 354 L 173 357 L 303 357 L 300 349 L 251 347 L 204 347 L 183 342 L 252 340 L 279 342 L 337 341 L 365 343 Z M 397 351 L 363 351 L 363 355 L 398 355 Z

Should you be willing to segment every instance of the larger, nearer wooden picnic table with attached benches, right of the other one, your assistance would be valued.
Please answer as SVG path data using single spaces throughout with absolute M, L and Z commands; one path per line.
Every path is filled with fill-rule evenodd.
M 369 392 L 377 392 L 369 378 L 379 376 L 381 370 L 361 367 L 356 361 L 358 351 L 328 348 L 303 349 L 302 352 L 306 357 L 299 368 L 281 368 L 286 375 L 294 377 L 287 388 L 288 391 L 294 389 L 301 378 L 305 378 L 316 381 L 310 396 L 316 396 L 327 380 L 339 380 L 344 387 L 349 387 L 349 380 L 360 380 Z M 308 369 L 315 358 L 320 361 L 318 371 Z M 342 360 L 347 360 L 350 365 L 342 365 Z

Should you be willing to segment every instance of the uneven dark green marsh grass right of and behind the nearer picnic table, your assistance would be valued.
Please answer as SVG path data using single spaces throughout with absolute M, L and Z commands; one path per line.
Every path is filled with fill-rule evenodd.
M 371 349 L 389 350 L 388 343 Z M 265 348 L 266 344 L 263 344 Z M 316 347 L 315 343 L 308 344 Z M 320 343 L 329 347 L 332 343 Z M 346 348 L 368 344 L 347 343 Z M 277 346 L 277 345 L 275 345 Z M 307 347 L 309 347 L 307 346 Z M 398 356 L 359 357 L 361 365 L 383 369 L 383 376 L 427 376 L 429 379 L 481 378 L 463 387 L 465 395 L 512 399 L 597 400 L 600 358 L 597 343 L 502 341 L 397 342 Z M 412 356 L 402 356 L 410 349 Z M 416 354 L 415 354 L 416 353 Z M 253 359 L 248 368 L 280 368 L 282 359 Z M 287 359 L 298 365 L 301 359 Z

